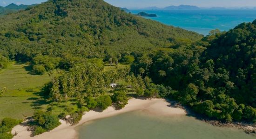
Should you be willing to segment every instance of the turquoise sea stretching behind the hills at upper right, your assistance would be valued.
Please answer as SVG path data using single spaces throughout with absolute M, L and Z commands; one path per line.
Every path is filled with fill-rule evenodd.
M 243 22 L 256 19 L 255 10 L 131 10 L 155 13 L 158 17 L 148 18 L 167 25 L 207 35 L 209 31 L 220 29 L 228 31 Z

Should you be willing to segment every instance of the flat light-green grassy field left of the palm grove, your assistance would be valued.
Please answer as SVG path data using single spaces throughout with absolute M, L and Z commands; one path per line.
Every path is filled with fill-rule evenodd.
M 0 97 L 0 119 L 25 118 L 31 116 L 34 109 L 47 104 L 40 92 L 50 77 L 32 75 L 27 68 L 27 64 L 12 63 L 8 69 L 1 71 L 0 88 L 6 87 L 7 92 Z

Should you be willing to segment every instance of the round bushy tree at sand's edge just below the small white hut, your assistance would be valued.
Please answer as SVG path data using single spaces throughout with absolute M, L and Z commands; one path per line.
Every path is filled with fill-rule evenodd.
M 117 104 L 118 107 L 122 108 L 128 104 L 128 98 L 125 91 L 117 91 L 112 96 L 112 101 Z

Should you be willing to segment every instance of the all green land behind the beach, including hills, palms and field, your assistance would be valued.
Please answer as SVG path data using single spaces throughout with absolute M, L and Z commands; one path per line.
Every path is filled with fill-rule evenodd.
M 30 125 L 37 135 L 59 118 L 74 125 L 88 110 L 143 96 L 252 123 L 255 67 L 256 20 L 203 37 L 103 0 L 48 0 L 0 18 L 0 118 L 36 109 Z

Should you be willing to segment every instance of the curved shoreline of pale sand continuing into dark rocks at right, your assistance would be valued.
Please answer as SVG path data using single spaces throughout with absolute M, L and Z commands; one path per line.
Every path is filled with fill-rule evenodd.
M 90 121 L 107 118 L 119 114 L 124 114 L 133 111 L 144 111 L 151 115 L 161 115 L 161 116 L 193 116 L 197 120 L 201 120 L 213 126 L 222 127 L 234 127 L 243 130 L 247 134 L 256 135 L 256 125 L 245 124 L 245 123 L 223 123 L 217 120 L 207 119 L 202 115 L 195 114 L 191 112 L 188 108 L 182 107 L 181 105 L 175 103 L 174 101 L 168 101 L 165 99 L 136 99 L 132 98 L 128 101 L 128 104 L 122 109 L 115 109 L 115 107 L 108 107 L 103 112 L 98 112 L 90 110 L 86 112 L 80 122 L 74 126 L 70 126 L 66 121 L 60 120 L 61 125 L 54 128 L 52 131 L 42 133 L 40 135 L 31 137 L 30 131 L 27 131 L 28 126 L 24 121 L 18 126 L 12 129 L 12 133 L 17 133 L 13 139 L 78 139 L 79 126 L 82 126 Z

